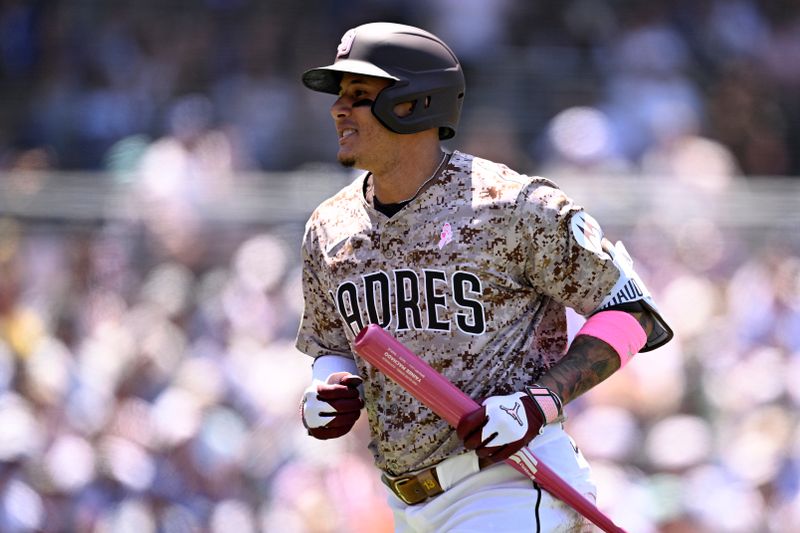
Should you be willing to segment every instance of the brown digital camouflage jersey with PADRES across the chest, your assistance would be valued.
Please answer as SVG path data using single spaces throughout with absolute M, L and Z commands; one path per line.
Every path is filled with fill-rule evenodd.
M 454 152 L 388 218 L 362 174 L 311 215 L 297 348 L 355 358 L 378 468 L 391 475 L 465 451 L 455 431 L 353 354 L 377 323 L 474 399 L 534 383 L 566 351 L 565 306 L 596 310 L 619 278 L 599 228 L 552 182 Z

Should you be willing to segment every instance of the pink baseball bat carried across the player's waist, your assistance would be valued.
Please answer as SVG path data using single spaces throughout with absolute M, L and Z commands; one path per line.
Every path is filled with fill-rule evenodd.
M 475 400 L 377 324 L 370 324 L 359 332 L 355 349 L 358 355 L 453 427 L 458 425 L 461 417 L 480 407 Z M 625 530 L 614 524 L 594 503 L 540 462 L 527 448 L 522 448 L 506 459 L 506 463 L 537 482 L 603 531 L 625 533 Z

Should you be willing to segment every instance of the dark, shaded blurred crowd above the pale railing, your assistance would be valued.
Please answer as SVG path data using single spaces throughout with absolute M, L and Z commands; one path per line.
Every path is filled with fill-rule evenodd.
M 528 173 L 800 175 L 788 0 L 4 1 L 0 169 L 125 167 L 164 137 L 235 170 L 330 161 L 330 102 L 299 76 L 374 20 L 460 56 L 467 151 Z

